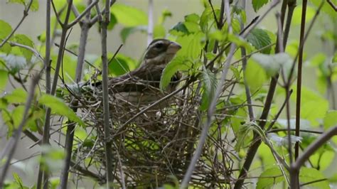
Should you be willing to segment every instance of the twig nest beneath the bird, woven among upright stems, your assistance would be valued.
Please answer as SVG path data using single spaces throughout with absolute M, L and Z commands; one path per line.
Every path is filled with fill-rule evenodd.
M 129 100 L 132 97 L 130 93 L 117 94 L 109 89 L 112 125 L 108 140 L 113 149 L 114 162 L 111 166 L 115 170 L 114 179 L 119 186 L 124 180 L 127 187 L 157 188 L 167 183 L 174 185 L 183 178 L 200 136 L 200 123 L 205 119 L 200 114 L 200 97 L 196 95 L 200 91 L 196 88 L 190 85 L 166 100 L 161 100 L 161 97 L 171 91 L 152 89 L 152 94 L 147 95 L 154 95 L 151 97 L 156 97 L 154 102 L 161 102 L 149 109 L 154 102 Z M 144 94 L 136 95 L 139 99 Z M 90 131 L 77 149 L 77 155 L 85 157 L 85 167 L 96 169 L 95 172 L 105 178 L 102 89 L 82 88 L 77 99 L 80 99 L 78 105 L 82 119 L 88 125 L 87 131 Z M 208 141 L 191 178 L 193 186 L 223 187 L 233 182 L 232 148 L 220 134 L 220 130 L 225 129 L 223 121 L 216 119 L 218 125 L 210 129 Z

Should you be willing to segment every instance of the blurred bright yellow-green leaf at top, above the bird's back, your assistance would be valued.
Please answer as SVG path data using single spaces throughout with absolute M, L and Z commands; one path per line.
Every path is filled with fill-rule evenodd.
M 147 25 L 147 16 L 144 11 L 132 6 L 116 3 L 110 8 L 118 23 L 127 27 Z

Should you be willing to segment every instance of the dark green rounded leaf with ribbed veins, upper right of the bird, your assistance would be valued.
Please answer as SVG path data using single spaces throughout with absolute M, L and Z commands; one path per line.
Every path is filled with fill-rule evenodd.
M 260 28 L 254 28 L 247 36 L 247 41 L 252 43 L 252 45 L 257 49 L 264 48 L 267 45 L 270 45 L 272 43 L 271 39 L 269 38 L 269 35 L 266 31 L 260 29 Z M 261 52 L 264 54 L 269 54 L 271 50 L 271 46 L 268 48 L 265 48 Z

